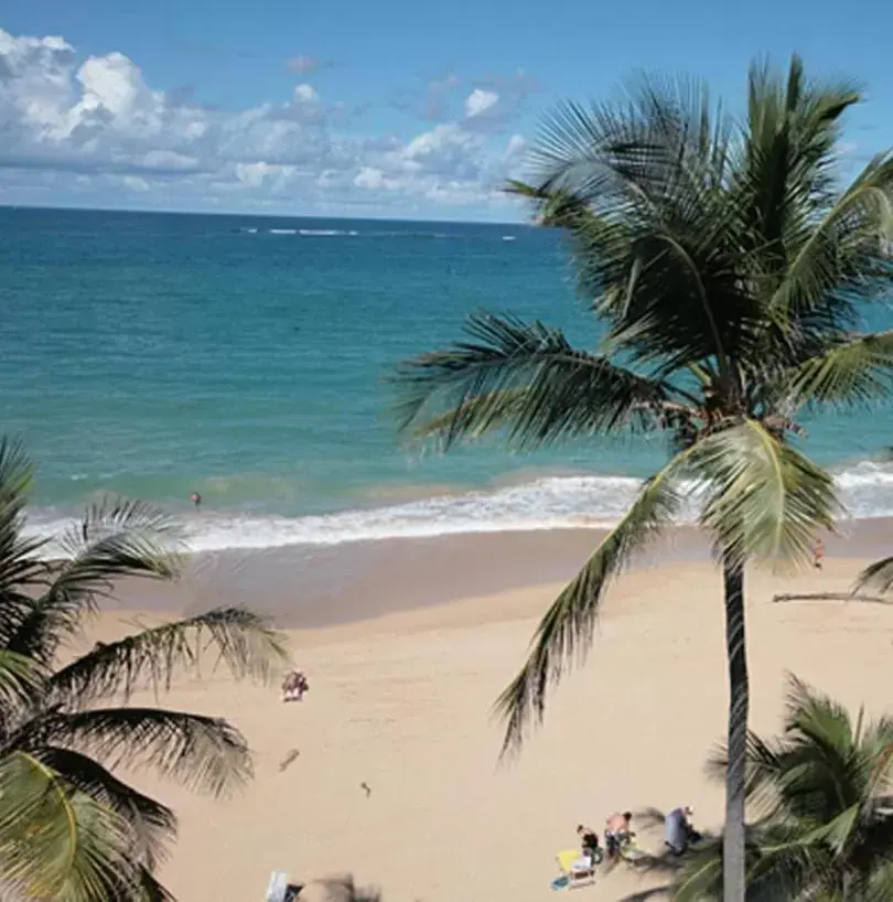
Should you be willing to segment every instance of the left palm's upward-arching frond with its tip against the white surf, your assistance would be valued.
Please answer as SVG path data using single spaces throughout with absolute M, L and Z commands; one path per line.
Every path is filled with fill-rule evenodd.
M 60 642 L 111 597 L 117 580 L 173 579 L 182 540 L 176 522 L 144 502 L 109 498 L 89 507 L 60 539 L 68 557 L 54 567 L 7 647 L 50 664 Z

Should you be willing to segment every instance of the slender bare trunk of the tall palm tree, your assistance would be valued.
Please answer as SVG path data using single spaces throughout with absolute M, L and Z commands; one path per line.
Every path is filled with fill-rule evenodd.
M 747 647 L 744 635 L 744 568 L 723 555 L 725 655 L 729 664 L 729 766 L 725 772 L 725 829 L 722 845 L 723 902 L 744 902 L 744 782 L 747 750 Z

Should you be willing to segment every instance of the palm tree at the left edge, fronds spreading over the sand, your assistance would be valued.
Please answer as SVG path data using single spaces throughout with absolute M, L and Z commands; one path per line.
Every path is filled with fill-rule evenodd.
M 47 562 L 46 543 L 25 530 L 31 474 L 21 447 L 0 441 L 0 891 L 169 900 L 154 870 L 176 817 L 119 767 L 218 796 L 250 777 L 250 753 L 223 719 L 130 705 L 131 695 L 164 690 L 211 653 L 238 677 L 263 678 L 283 645 L 263 619 L 226 608 L 74 655 L 117 581 L 176 576 L 179 534 L 146 504 L 107 502 L 63 537 L 65 559 Z

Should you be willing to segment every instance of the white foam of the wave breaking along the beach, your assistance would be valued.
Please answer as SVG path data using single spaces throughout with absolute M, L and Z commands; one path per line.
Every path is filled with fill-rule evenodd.
M 856 518 L 893 516 L 893 464 L 863 461 L 837 474 L 840 495 Z M 639 482 L 625 476 L 549 476 L 491 492 L 438 495 L 399 505 L 283 517 L 222 513 L 187 518 L 191 547 L 277 548 L 340 545 L 513 529 L 605 528 L 627 509 Z M 692 512 L 682 515 L 691 519 Z M 40 535 L 58 535 L 71 520 L 51 512 L 30 523 Z

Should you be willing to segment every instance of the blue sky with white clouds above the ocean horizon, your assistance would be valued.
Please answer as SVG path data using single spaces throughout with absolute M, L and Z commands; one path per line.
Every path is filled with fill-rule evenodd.
M 637 69 L 741 108 L 749 63 L 852 77 L 893 144 L 880 0 L 3 0 L 0 204 L 510 222 L 538 122 Z

